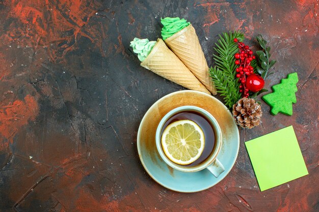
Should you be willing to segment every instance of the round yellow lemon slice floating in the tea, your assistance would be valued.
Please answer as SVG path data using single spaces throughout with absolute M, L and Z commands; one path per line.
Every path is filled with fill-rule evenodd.
M 164 130 L 161 143 L 168 159 L 179 165 L 189 165 L 203 153 L 205 137 L 192 120 L 178 120 Z

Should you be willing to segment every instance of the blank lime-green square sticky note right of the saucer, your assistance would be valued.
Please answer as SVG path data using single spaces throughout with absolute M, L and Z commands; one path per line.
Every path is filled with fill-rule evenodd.
M 293 126 L 255 138 L 245 144 L 260 191 L 308 174 Z

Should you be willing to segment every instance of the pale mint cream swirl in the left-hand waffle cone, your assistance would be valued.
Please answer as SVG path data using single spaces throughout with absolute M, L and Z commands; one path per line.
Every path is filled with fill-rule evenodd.
M 149 41 L 147 38 L 134 38 L 134 40 L 130 42 L 129 46 L 133 48 L 133 51 L 138 54 L 139 60 L 143 62 L 144 59 L 149 55 L 155 44 L 156 41 Z

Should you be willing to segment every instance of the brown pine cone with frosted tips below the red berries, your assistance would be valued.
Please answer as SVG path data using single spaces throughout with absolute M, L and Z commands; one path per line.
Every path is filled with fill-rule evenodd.
M 260 124 L 261 106 L 254 99 L 244 97 L 232 106 L 232 115 L 237 125 L 251 129 Z

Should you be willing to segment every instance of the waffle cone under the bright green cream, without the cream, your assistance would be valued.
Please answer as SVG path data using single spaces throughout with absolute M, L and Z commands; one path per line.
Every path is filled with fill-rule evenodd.
M 208 75 L 207 62 L 192 24 L 167 38 L 165 43 L 211 94 L 216 95 L 216 88 Z

